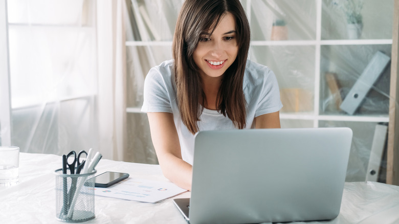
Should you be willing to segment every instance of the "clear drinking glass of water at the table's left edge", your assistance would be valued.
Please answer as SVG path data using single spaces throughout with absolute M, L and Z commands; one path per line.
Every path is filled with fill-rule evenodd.
M 0 187 L 13 186 L 19 177 L 19 147 L 0 146 Z

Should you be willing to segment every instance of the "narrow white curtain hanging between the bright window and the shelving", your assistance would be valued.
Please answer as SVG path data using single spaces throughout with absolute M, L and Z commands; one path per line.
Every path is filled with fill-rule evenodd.
M 98 131 L 105 158 L 129 161 L 126 148 L 126 52 L 121 0 L 97 2 Z

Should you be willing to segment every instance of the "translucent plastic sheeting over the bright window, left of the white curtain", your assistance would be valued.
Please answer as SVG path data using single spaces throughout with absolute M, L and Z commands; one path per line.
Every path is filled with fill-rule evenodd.
M 94 19 L 93 1 L 8 1 L 11 142 L 21 152 L 97 146 Z

